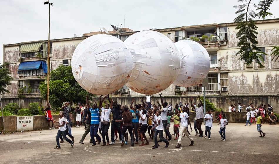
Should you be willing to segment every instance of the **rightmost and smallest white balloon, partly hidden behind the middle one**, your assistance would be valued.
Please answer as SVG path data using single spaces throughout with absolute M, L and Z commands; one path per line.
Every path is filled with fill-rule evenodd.
M 200 84 L 210 69 L 208 52 L 202 45 L 191 40 L 180 40 L 174 44 L 179 51 L 181 64 L 174 84 L 181 87 Z

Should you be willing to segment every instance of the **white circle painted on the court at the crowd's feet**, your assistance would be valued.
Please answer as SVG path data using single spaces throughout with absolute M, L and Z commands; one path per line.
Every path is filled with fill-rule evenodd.
M 91 145 L 90 145 L 91 146 Z M 150 153 L 147 153 L 146 152 L 146 150 L 145 149 L 152 149 L 152 148 L 144 148 L 144 147 L 139 147 L 138 146 L 138 148 L 135 146 L 135 147 L 121 147 L 121 146 L 110 146 L 110 147 L 117 147 L 117 148 L 119 148 L 119 150 L 121 150 L 121 149 L 123 149 L 123 148 L 130 148 L 130 149 L 137 149 L 137 153 L 136 154 L 129 154 L 129 153 L 126 153 L 126 154 L 119 154 L 119 151 L 118 151 L 118 149 L 115 151 L 115 153 L 100 153 L 100 152 L 95 152 L 96 150 L 94 150 L 94 151 L 91 151 L 90 149 L 91 148 L 88 148 L 88 147 L 90 147 L 90 146 L 86 146 L 85 148 L 84 148 L 84 150 L 86 150 L 86 151 L 89 151 L 89 152 L 91 152 L 91 153 L 98 153 L 98 154 L 106 154 L 106 155 L 128 155 L 128 156 L 144 156 L 144 155 L 156 155 L 156 154 L 166 154 L 166 153 L 173 153 L 173 152 L 176 152 L 176 151 L 179 151 L 179 150 L 182 150 L 182 148 L 179 148 L 179 149 L 177 149 L 177 150 L 174 150 L 174 149 L 155 149 L 155 150 L 160 150 L 160 151 L 168 151 L 168 152 L 161 152 L 161 153 L 153 153 L 153 154 L 150 154 Z M 92 146 L 92 150 L 93 150 L 93 148 L 95 148 L 95 146 Z M 125 149 L 126 150 L 126 149 Z M 127 151 L 129 151 L 129 150 L 127 150 Z M 139 154 L 139 153 L 141 153 L 141 151 L 142 152 L 145 152 L 144 154 Z M 131 151 L 129 151 L 129 152 L 131 152 Z M 134 151 L 132 151 L 132 152 L 134 152 Z

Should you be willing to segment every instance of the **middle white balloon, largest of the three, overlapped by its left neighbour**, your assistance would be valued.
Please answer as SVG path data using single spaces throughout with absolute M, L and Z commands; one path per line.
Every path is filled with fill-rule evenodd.
M 156 31 L 141 31 L 125 40 L 133 58 L 133 72 L 126 86 L 142 94 L 155 94 L 176 79 L 180 57 L 174 43 Z

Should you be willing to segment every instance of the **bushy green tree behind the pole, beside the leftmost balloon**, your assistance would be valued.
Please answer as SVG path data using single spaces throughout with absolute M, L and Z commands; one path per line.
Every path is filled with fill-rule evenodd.
M 49 102 L 55 109 L 61 107 L 63 102 L 85 102 L 86 95 L 95 97 L 96 95 L 88 93 L 75 80 L 71 66 L 60 65 L 57 69 L 51 71 L 49 80 Z M 41 97 L 46 100 L 46 83 L 40 83 Z

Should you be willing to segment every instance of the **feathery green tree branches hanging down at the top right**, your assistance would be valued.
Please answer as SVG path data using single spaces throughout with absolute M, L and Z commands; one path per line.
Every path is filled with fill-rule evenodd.
M 238 9 L 236 11 L 238 16 L 234 19 L 234 22 L 236 23 L 236 30 L 238 30 L 236 33 L 236 38 L 239 39 L 237 46 L 241 47 L 236 55 L 240 55 L 239 59 L 246 60 L 247 65 L 254 61 L 260 66 L 263 66 L 261 64 L 261 62 L 264 62 L 262 55 L 265 53 L 261 52 L 257 47 L 258 41 L 256 34 L 258 34 L 258 26 L 256 26 L 255 19 L 257 17 L 258 19 L 264 19 L 267 16 L 272 16 L 272 13 L 269 13 L 268 10 L 274 0 L 263 0 L 258 5 L 251 0 L 238 0 L 238 2 L 242 4 L 233 6 Z M 256 8 L 258 13 L 255 13 L 251 9 L 252 6 Z M 276 61 L 279 57 L 279 47 L 274 47 L 272 50 L 275 50 L 271 55 L 274 55 L 273 59 Z

